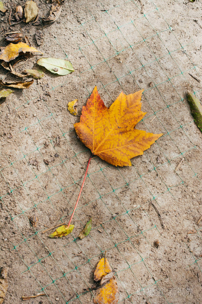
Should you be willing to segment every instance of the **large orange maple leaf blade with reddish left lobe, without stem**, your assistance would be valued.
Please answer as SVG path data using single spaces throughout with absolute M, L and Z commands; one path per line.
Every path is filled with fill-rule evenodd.
M 130 159 L 142 155 L 161 134 L 135 129 L 146 112 L 141 111 L 144 90 L 125 95 L 123 92 L 107 108 L 97 87 L 82 108 L 81 119 L 74 127 L 80 140 L 92 154 L 114 166 L 131 166 Z

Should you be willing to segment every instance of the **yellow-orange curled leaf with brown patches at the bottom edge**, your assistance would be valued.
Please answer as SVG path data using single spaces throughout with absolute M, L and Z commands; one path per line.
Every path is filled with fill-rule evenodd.
M 112 275 L 112 277 L 111 277 Z M 109 278 L 111 279 L 109 280 Z M 93 298 L 94 304 L 117 304 L 119 298 L 118 286 L 113 275 L 112 269 L 109 265 L 108 260 L 103 257 L 99 262 L 94 271 L 94 280 L 96 282 L 102 282 L 105 284 L 99 288 L 96 292 L 95 297 Z M 109 281 L 108 281 L 109 280 Z

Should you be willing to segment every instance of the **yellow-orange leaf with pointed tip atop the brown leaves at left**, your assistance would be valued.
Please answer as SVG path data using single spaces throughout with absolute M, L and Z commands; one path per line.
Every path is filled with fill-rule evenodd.
M 29 47 L 26 43 L 24 42 L 18 42 L 17 44 L 9 43 L 5 48 L 1 48 L 2 51 L 0 52 L 0 59 L 9 62 L 16 57 L 19 56 L 19 53 L 35 53 L 39 52 L 35 47 Z M 41 53 L 42 54 L 42 53 Z

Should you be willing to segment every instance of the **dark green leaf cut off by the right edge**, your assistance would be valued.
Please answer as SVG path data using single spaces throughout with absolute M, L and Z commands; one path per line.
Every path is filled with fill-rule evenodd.
M 190 104 L 191 114 L 194 117 L 195 123 L 202 132 L 202 105 L 199 99 L 190 91 L 187 92 L 187 99 Z

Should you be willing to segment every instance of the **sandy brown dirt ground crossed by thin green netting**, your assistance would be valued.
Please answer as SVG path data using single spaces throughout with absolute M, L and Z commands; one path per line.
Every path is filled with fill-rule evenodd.
M 46 18 L 51 4 L 36 3 Z M 8 11 L 0 12 L 2 33 L 22 30 L 44 57 L 66 58 L 75 68 L 67 76 L 42 68 L 45 76 L 29 89 L 14 89 L 1 100 L 0 266 L 9 267 L 5 304 L 41 291 L 46 295 L 27 303 L 91 303 L 94 292 L 85 289 L 93 284 L 93 269 L 105 250 L 116 271 L 120 303 L 201 303 L 201 133 L 185 96 L 187 88 L 202 95 L 202 5 L 199 0 L 154 3 L 66 0 L 60 18 L 43 22 L 43 28 L 13 24 L 18 1 L 7 1 Z M 44 34 L 41 46 L 37 29 Z M 23 71 L 37 67 L 40 57 L 14 62 L 23 59 L 18 68 Z M 1 78 L 6 72 L 0 68 Z M 42 231 L 68 223 L 90 156 L 74 131 L 79 116 L 71 115 L 67 104 L 77 98 L 80 115 L 95 85 L 107 106 L 121 91 L 144 88 L 147 114 L 137 128 L 164 136 L 132 159 L 131 167 L 115 168 L 94 158 L 73 232 L 50 239 Z M 33 216 L 36 227 L 30 224 Z M 91 233 L 80 240 L 90 216 Z

